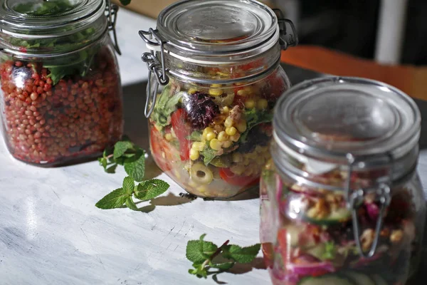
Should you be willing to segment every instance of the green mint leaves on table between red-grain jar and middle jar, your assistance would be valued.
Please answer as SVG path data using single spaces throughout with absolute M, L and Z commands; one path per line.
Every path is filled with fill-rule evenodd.
M 169 184 L 159 179 L 145 180 L 145 151 L 125 137 L 116 142 L 114 148 L 104 150 L 98 159 L 105 172 L 114 173 L 117 165 L 123 165 L 127 177 L 123 180 L 122 188 L 116 189 L 106 195 L 95 206 L 100 209 L 115 209 L 128 207 L 138 210 L 135 199 L 148 201 L 162 195 L 169 189 Z M 141 182 L 135 185 L 136 182 Z

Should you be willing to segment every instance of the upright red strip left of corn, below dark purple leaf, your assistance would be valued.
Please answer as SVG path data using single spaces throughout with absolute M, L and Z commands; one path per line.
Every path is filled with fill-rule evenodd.
M 178 109 L 172 114 L 171 123 L 176 138 L 179 140 L 179 155 L 181 160 L 189 160 L 191 141 L 187 137 L 191 134 L 191 128 L 185 121 L 184 109 Z

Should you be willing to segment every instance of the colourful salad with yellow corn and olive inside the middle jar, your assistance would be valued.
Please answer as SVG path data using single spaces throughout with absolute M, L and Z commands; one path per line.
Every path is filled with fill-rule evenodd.
M 205 68 L 203 73 L 223 79 L 249 68 Z M 273 107 L 288 87 L 279 68 L 260 81 L 232 85 L 171 78 L 149 118 L 154 160 L 198 197 L 233 197 L 258 186 L 269 157 Z

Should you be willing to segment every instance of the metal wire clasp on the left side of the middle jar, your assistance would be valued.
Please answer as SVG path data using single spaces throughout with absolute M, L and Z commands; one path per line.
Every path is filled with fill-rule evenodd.
M 148 74 L 148 83 L 147 83 L 147 99 L 145 101 L 144 115 L 146 118 L 152 114 L 154 110 L 154 105 L 157 100 L 157 91 L 159 90 L 159 85 L 166 86 L 169 83 L 169 77 L 166 72 L 166 65 L 164 61 L 164 42 L 160 38 L 158 31 L 149 28 L 148 31 L 139 31 L 139 36 L 147 43 L 147 46 L 151 49 L 151 52 L 143 53 L 141 56 L 142 61 L 147 63 L 147 68 L 149 71 Z M 153 41 L 153 38 L 154 40 Z M 160 50 L 160 59 L 156 56 L 156 51 Z M 156 77 L 156 82 L 154 83 L 154 88 L 152 89 L 152 75 Z

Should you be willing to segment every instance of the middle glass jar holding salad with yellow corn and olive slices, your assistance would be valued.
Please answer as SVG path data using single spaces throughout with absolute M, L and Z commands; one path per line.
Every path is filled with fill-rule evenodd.
M 280 51 L 296 44 L 292 22 L 277 13 L 252 0 L 179 1 L 157 30 L 140 31 L 153 50 L 142 56 L 152 156 L 192 195 L 258 187 L 273 107 L 290 88 Z

